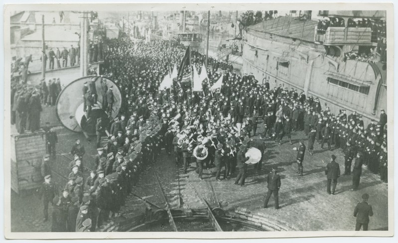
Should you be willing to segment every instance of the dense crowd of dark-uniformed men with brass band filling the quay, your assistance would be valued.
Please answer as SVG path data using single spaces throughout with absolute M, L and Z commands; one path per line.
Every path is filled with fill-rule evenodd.
M 263 140 L 267 137 L 277 140 L 281 145 L 284 136 L 291 143 L 292 130 L 304 130 L 311 139 L 308 140 L 308 146 L 300 140 L 295 148 L 297 173 L 300 176 L 303 176 L 305 151 L 308 149 L 312 155 L 313 144 L 318 141 L 327 143 L 329 149 L 332 145 L 335 148 L 340 146 L 345 153 L 351 151 L 346 144 L 352 144 L 355 148 L 352 149 L 353 154 L 347 157 L 347 163 L 358 152 L 369 155 L 364 156 L 363 163 L 375 173 L 380 169 L 382 178 L 387 179 L 387 115 L 384 111 L 379 124 L 374 121 L 364 129 L 362 117 L 356 113 L 347 117 L 345 111 L 341 111 L 335 116 L 327 107 L 322 110 L 319 99 L 307 98 L 303 92 L 298 94 L 296 90 L 289 91 L 281 85 L 269 89 L 268 80 L 265 85 L 260 85 L 253 74 L 241 76 L 228 70 L 227 66 L 223 74 L 224 85 L 216 92 L 211 93 L 207 86 L 203 94 L 176 85 L 173 90 L 159 90 L 160 81 L 169 72 L 170 64 L 179 63 L 184 49 L 174 44 L 166 45 L 164 41 L 136 45 L 135 48 L 135 44 L 125 38 L 109 40 L 105 52 L 105 70 L 111 79 L 118 80 L 116 83 L 127 102 L 121 106 L 122 115 L 106 127 L 110 131 L 107 144 L 101 147 L 97 143 L 96 167 L 92 169 L 90 177 L 82 177 L 84 147 L 78 140 L 73 146 L 71 153 L 74 160 L 70 165 L 72 172 L 68 184 L 60 197 L 60 204 L 57 200 L 53 201 L 57 201 L 54 207 L 61 207 L 55 217 L 63 217 L 62 230 L 68 230 L 66 223 L 64 227 L 64 222 L 68 220 L 63 212 L 68 212 L 68 206 L 73 204 L 72 198 L 83 206 L 77 216 L 75 231 L 83 228 L 86 219 L 91 220 L 90 230 L 95 231 L 110 217 L 118 217 L 126 196 L 137 185 L 139 172 L 156 161 L 163 147 L 170 155 L 174 149 L 175 162 L 183 165 L 184 173 L 188 172 L 190 158 L 195 157 L 200 180 L 206 179 L 203 178 L 203 169 L 213 165 L 218 180 L 221 180 L 222 167 L 225 167 L 225 179 L 229 179 L 238 168 L 239 173 L 234 182 L 245 186 L 248 148 L 259 146 L 264 154 Z M 132 50 L 135 51 L 130 52 Z M 194 65 L 200 68 L 203 55 L 194 52 L 193 56 L 196 60 Z M 210 67 L 207 72 L 209 83 L 214 83 L 222 76 L 215 67 Z M 102 87 L 103 82 L 102 77 L 93 77 L 83 88 L 85 111 L 89 118 L 94 105 L 101 105 L 108 113 L 112 111 L 112 87 L 105 93 L 104 89 L 101 91 L 102 96 L 105 94 L 107 97 L 107 103 L 97 104 L 96 89 Z M 261 134 L 261 145 L 254 145 L 257 141 L 253 140 L 252 132 L 255 135 L 259 117 L 263 118 L 265 131 Z M 97 132 L 97 135 L 101 135 L 104 129 L 99 125 Z M 260 170 L 261 164 L 257 168 Z M 337 173 L 334 172 L 326 171 L 328 180 L 331 179 L 333 183 Z M 268 175 L 267 198 L 269 200 L 273 194 L 275 207 L 278 208 L 277 190 L 280 182 L 275 178 L 277 176 Z M 355 183 L 357 181 L 358 178 Z

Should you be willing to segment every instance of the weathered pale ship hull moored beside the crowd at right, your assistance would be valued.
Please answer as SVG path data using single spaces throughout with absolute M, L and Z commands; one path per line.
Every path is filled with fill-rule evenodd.
M 281 84 L 289 90 L 304 91 L 307 97 L 318 97 L 322 108 L 327 106 L 334 114 L 341 109 L 347 114 L 357 111 L 366 123 L 378 121 L 380 111 L 387 108 L 382 69 L 328 56 L 322 45 L 311 42 L 249 30 L 242 73 L 253 73 L 259 83 L 269 80 L 271 89 Z

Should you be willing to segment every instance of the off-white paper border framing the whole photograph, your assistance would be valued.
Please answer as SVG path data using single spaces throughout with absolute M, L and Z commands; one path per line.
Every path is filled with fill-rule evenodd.
M 266 7 L 265 5 L 266 4 Z M 123 11 L 145 10 L 145 11 L 165 11 L 165 10 L 239 10 L 239 9 L 355 9 L 355 10 L 386 10 L 387 16 L 387 49 L 389 50 L 387 60 L 387 100 L 393 101 L 394 98 L 394 6 L 392 3 L 93 3 L 93 4 L 9 4 L 4 5 L 4 236 L 6 239 L 242 239 L 242 238 L 296 238 L 296 237 L 330 237 L 330 236 L 370 236 L 387 237 L 394 234 L 394 217 L 389 217 L 388 231 L 307 231 L 307 232 L 107 232 L 107 233 L 19 233 L 10 232 L 10 12 L 14 10 L 29 9 L 40 11 L 59 11 L 62 10 L 94 10 L 94 11 Z M 391 21 L 390 21 L 391 20 Z M 7 88 L 7 89 L 5 89 Z M 8 92 L 7 92 L 8 91 Z M 394 216 L 394 144 L 393 144 L 393 102 L 387 103 L 388 119 L 388 161 L 389 161 L 389 215 Z M 6 200 L 8 199 L 8 200 Z

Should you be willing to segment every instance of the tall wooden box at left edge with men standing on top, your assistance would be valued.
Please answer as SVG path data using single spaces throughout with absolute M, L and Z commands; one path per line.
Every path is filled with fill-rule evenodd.
M 20 194 L 41 186 L 41 161 L 46 153 L 43 131 L 11 135 L 11 189 Z

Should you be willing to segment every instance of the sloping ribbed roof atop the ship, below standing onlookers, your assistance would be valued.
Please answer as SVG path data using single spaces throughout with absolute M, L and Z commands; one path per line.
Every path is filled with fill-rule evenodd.
M 316 20 L 280 16 L 249 26 L 248 29 L 313 42 L 316 25 Z

